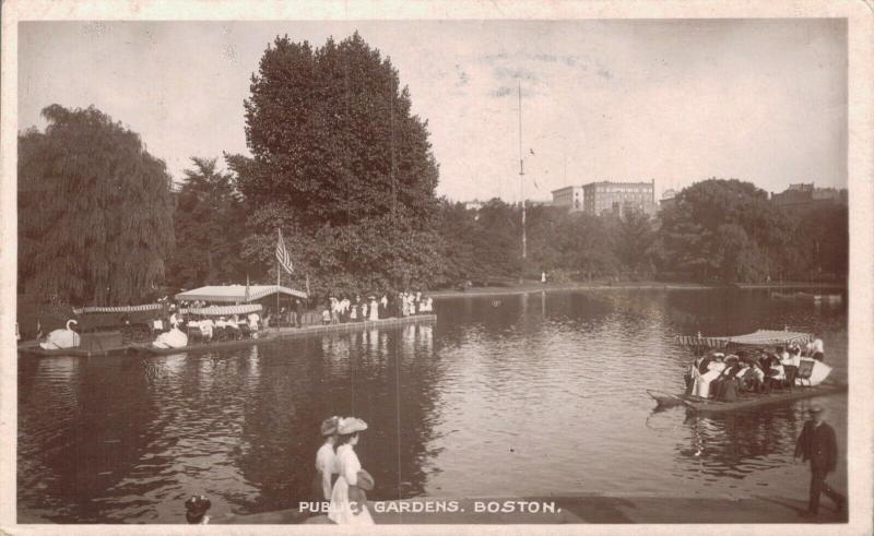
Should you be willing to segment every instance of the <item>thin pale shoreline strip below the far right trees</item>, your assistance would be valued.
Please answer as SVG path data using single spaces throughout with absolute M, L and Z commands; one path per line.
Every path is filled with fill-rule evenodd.
M 607 285 L 603 283 L 523 283 L 507 287 L 473 287 L 468 290 L 434 290 L 426 293 L 432 298 L 463 298 L 465 296 L 513 296 L 532 293 L 557 293 L 568 290 L 714 290 L 720 288 L 736 288 L 743 290 L 756 289 L 822 289 L 831 290 L 828 294 L 838 294 L 834 290 L 845 291 L 843 283 L 745 283 L 729 287 L 724 285 L 707 285 L 704 283 L 660 283 L 645 281 L 639 283 L 618 283 Z

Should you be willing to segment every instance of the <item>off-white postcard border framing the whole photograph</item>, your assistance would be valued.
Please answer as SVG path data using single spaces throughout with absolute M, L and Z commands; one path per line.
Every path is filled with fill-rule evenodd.
M 786 1 L 228 1 L 228 0 L 8 0 L 2 5 L 2 164 L 0 190 L 0 532 L 11 534 L 872 534 L 872 209 L 874 207 L 874 2 Z M 746 19 L 847 17 L 849 46 L 850 377 L 848 525 L 415 525 L 350 531 L 336 526 L 95 526 L 14 525 L 16 356 L 15 147 L 17 22 L 35 20 L 435 20 L 435 19 Z

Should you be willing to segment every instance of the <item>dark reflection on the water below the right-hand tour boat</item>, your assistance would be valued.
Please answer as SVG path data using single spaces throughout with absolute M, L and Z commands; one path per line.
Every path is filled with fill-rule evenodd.
M 687 410 L 688 442 L 677 444 L 676 460 L 686 471 L 743 478 L 759 469 L 772 454 L 790 454 L 804 424 L 794 407 L 764 407 L 754 412 L 700 415 Z M 768 461 L 772 465 L 773 460 Z

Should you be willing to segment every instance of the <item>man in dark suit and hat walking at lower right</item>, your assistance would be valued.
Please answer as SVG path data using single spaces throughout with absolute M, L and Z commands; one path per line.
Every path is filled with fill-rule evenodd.
M 819 493 L 825 493 L 835 501 L 838 512 L 843 511 L 847 499 L 831 489 L 826 484 L 826 475 L 835 471 L 838 465 L 838 441 L 835 430 L 824 419 L 823 406 L 811 406 L 811 420 L 804 424 L 804 429 L 795 444 L 795 457 L 802 456 L 802 462 L 811 461 L 811 499 L 807 503 L 806 516 L 819 513 Z

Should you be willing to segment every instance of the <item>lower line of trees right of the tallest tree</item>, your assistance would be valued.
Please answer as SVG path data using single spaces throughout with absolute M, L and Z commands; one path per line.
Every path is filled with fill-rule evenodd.
M 630 211 L 597 217 L 528 207 L 528 260 L 520 265 L 518 205 L 479 211 L 444 202 L 446 279 L 536 277 L 673 278 L 707 283 L 806 281 L 847 273 L 847 207 L 786 210 L 749 182 L 710 179 L 683 190 L 658 217 Z

